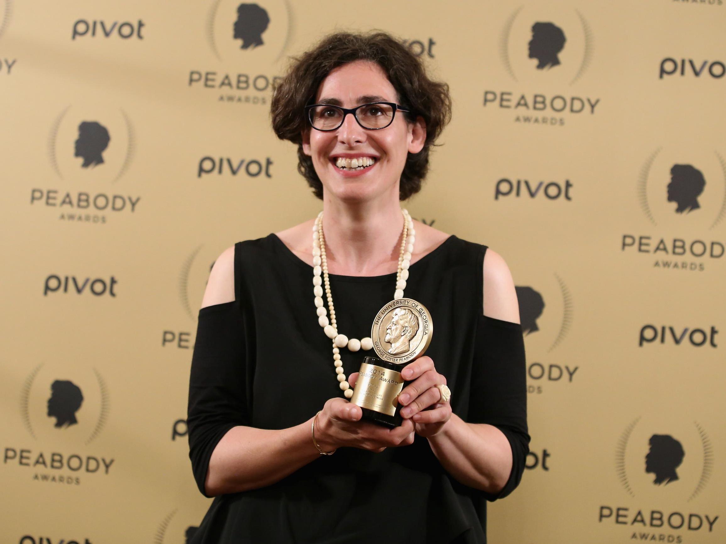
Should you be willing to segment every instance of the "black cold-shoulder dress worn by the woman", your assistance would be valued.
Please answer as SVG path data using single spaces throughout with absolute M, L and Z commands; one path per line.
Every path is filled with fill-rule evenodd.
M 497 426 L 510 442 L 513 469 L 499 494 L 449 476 L 425 437 L 382 453 L 338 448 L 273 485 L 216 497 L 192 542 L 486 542 L 486 500 L 518 485 L 529 435 L 521 326 L 482 315 L 485 252 L 485 246 L 450 236 L 411 265 L 406 296 L 430 312 L 426 355 L 446 376 L 454 413 Z M 188 425 L 189 457 L 202 493 L 212 451 L 233 426 L 285 429 L 342 396 L 330 339 L 317 322 L 312 276 L 311 266 L 274 234 L 239 242 L 234 302 L 200 310 Z M 395 273 L 330 275 L 341 330 L 348 337 L 370 336 L 395 283 Z M 357 371 L 364 352 L 341 351 L 346 374 Z

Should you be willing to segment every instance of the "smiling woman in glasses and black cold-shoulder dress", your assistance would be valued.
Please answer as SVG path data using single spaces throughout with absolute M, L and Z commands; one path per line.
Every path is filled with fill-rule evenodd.
M 216 499 L 195 543 L 486 541 L 485 500 L 518 485 L 529 444 L 514 284 L 499 255 L 399 205 L 449 112 L 448 88 L 383 33 L 325 38 L 275 89 L 273 128 L 324 213 L 211 271 L 188 424 Z M 345 372 L 404 289 L 436 334 L 402 370 L 404 421 L 388 429 L 362 421 Z

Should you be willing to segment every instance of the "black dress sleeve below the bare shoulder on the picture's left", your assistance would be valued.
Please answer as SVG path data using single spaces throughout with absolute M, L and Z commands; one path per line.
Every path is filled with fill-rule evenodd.
M 249 424 L 246 382 L 239 304 L 205 306 L 199 310 L 187 405 L 189 458 L 205 497 L 209 459 L 217 443 L 232 427 Z

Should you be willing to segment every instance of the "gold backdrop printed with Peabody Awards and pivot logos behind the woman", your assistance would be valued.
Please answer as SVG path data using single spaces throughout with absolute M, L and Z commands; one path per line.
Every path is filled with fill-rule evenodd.
M 0 0 L 3 543 L 182 544 L 205 281 L 313 217 L 290 55 L 399 36 L 454 118 L 415 218 L 502 254 L 531 453 L 493 543 L 723 543 L 722 0 Z

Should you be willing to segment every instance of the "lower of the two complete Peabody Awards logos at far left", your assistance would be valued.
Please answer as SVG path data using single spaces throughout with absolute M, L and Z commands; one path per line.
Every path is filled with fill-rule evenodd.
M 85 477 L 107 475 L 113 458 L 79 449 L 96 440 L 108 413 L 108 389 L 97 369 L 38 365 L 23 384 L 20 417 L 30 437 L 52 449 L 8 446 L 3 463 L 30 469 L 36 482 L 81 485 Z M 75 451 L 68 451 L 68 444 L 75 444 Z

